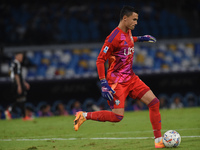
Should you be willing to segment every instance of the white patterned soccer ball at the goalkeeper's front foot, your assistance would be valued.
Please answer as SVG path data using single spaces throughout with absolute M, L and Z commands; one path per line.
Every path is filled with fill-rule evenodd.
M 163 135 L 163 144 L 165 147 L 177 147 L 181 143 L 181 136 L 175 130 L 168 130 Z

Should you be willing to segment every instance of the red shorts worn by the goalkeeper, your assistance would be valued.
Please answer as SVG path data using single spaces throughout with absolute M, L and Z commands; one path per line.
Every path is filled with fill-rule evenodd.
M 133 75 L 128 82 L 118 83 L 117 85 L 110 84 L 110 86 L 116 92 L 113 95 L 113 101 L 107 101 L 111 109 L 124 108 L 124 103 L 128 95 L 133 99 L 141 99 L 150 90 L 137 75 Z

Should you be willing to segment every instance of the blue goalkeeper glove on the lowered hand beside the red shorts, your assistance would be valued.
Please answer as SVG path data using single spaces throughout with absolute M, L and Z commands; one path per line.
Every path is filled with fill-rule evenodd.
M 106 100 L 112 101 L 113 94 L 115 91 L 108 85 L 108 81 L 106 79 L 100 80 L 101 82 L 101 95 Z

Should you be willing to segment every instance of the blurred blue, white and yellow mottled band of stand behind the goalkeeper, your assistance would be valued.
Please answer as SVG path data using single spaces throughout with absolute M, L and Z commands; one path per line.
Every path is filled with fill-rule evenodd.
M 97 77 L 96 58 L 99 48 L 49 49 L 27 51 L 24 77 L 55 79 Z M 11 58 L 10 58 L 11 59 Z M 8 75 L 10 59 L 2 61 L 2 74 Z M 171 42 L 154 45 L 135 44 L 135 73 L 179 72 L 200 70 L 200 43 Z

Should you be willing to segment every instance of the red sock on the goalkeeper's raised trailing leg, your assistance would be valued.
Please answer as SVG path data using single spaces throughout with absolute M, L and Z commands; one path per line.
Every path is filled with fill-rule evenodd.
M 87 120 L 96 120 L 96 121 L 110 121 L 110 122 L 120 122 L 124 116 L 117 115 L 112 111 L 102 110 L 102 111 L 95 111 L 95 112 L 88 112 L 87 113 Z

